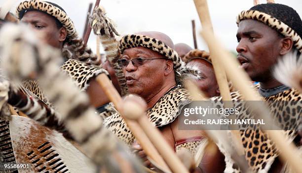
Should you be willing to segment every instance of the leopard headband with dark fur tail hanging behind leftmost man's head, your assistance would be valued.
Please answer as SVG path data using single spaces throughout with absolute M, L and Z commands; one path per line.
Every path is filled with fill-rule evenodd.
M 91 49 L 86 46 L 84 41 L 78 37 L 74 22 L 68 17 L 62 7 L 47 1 L 26 0 L 21 2 L 16 8 L 16 16 L 21 20 L 27 11 L 33 10 L 40 11 L 54 17 L 64 28 L 66 28 L 67 38 L 64 41 L 63 48 L 63 56 L 65 58 L 77 59 L 85 62 L 86 64 L 101 64 L 101 61 L 97 56 L 94 55 Z

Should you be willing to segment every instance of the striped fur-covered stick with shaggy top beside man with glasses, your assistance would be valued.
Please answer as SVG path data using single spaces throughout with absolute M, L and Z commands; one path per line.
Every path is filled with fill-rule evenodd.
M 115 29 L 115 25 L 113 21 L 106 16 L 105 9 L 101 6 L 94 9 L 93 14 L 90 16 L 90 24 L 94 34 L 100 38 L 106 53 L 106 59 L 115 71 L 115 76 L 121 88 L 121 95 L 124 96 L 128 93 L 128 87 L 122 69 L 116 63 L 120 52 L 118 50 L 117 39 L 119 34 Z

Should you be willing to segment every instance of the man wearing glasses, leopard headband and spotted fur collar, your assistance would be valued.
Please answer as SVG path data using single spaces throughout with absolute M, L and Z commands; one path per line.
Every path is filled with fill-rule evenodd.
M 192 155 L 204 142 L 202 131 L 179 131 L 180 101 L 190 100 L 183 88 L 187 77 L 199 78 L 174 49 L 171 38 L 159 32 L 140 32 L 125 35 L 119 42 L 121 57 L 117 60 L 126 78 L 129 94 L 136 94 L 147 102 L 147 116 L 176 152 L 187 149 Z M 104 120 L 105 125 L 129 147 L 139 150 L 146 166 L 150 162 L 122 117 L 115 113 Z

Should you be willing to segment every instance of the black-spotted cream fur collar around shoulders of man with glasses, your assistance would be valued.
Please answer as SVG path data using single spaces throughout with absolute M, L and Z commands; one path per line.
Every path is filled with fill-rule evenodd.
M 147 110 L 147 116 L 155 127 L 172 123 L 178 116 L 178 109 L 181 106 L 180 101 L 188 99 L 189 95 L 186 89 L 172 89 L 159 99 L 151 109 Z M 134 136 L 118 112 L 105 118 L 104 124 L 128 146 L 132 145 Z

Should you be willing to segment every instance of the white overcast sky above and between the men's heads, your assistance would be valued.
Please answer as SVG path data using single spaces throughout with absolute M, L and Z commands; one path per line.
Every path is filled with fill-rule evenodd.
M 6 0 L 0 0 L 0 5 Z M 16 5 L 22 0 L 15 0 Z M 48 0 L 62 6 L 76 25 L 79 35 L 82 35 L 89 2 L 95 0 Z M 260 0 L 266 3 L 266 0 Z M 302 16 L 301 0 L 275 0 L 276 3 L 289 5 Z M 174 44 L 184 42 L 192 48 L 193 37 L 191 20 L 195 20 L 196 31 L 201 30 L 199 18 L 193 0 L 101 0 L 107 16 L 117 25 L 121 35 L 139 31 L 158 31 L 169 35 Z M 235 51 L 236 16 L 242 10 L 253 6 L 253 0 L 208 0 L 210 16 L 214 32 L 227 47 Z M 12 7 L 11 12 L 15 8 Z M 207 50 L 202 37 L 197 35 L 199 49 Z M 90 35 L 88 45 L 95 51 L 96 37 Z M 101 48 L 101 51 L 102 48 Z

